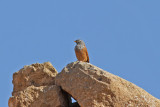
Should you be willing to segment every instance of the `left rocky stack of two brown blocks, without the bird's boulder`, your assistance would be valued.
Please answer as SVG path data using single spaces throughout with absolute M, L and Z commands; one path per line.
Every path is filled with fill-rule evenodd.
M 68 95 L 55 85 L 56 75 L 49 62 L 24 66 L 13 74 L 9 107 L 68 107 Z

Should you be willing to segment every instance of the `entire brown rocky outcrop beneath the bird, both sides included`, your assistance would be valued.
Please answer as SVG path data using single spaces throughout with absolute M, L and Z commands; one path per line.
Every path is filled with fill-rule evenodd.
M 145 90 L 90 63 L 73 62 L 57 74 L 49 62 L 24 66 L 13 74 L 9 107 L 160 107 Z

